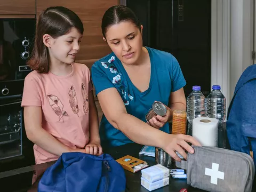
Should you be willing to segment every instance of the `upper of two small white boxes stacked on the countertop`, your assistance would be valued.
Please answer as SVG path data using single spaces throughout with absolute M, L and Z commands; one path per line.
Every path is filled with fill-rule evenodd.
M 141 170 L 141 177 L 149 182 L 155 182 L 170 176 L 170 170 L 161 164 Z

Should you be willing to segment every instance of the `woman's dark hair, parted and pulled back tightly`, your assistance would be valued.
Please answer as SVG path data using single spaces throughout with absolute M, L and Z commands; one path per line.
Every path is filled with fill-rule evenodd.
M 115 5 L 110 7 L 103 15 L 101 22 L 103 37 L 106 38 L 106 32 L 110 26 L 118 24 L 122 21 L 131 21 L 140 30 L 141 24 L 135 13 L 129 7 L 124 5 Z

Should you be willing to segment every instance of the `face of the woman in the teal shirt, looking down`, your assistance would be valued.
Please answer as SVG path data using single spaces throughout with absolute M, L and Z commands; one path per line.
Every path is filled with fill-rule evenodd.
M 141 26 L 141 32 L 142 32 Z M 106 41 L 119 60 L 126 65 L 137 63 L 142 52 L 142 33 L 131 21 L 123 21 L 107 29 Z

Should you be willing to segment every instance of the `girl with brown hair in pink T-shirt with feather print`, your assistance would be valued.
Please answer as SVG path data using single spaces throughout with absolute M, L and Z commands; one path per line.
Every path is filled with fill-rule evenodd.
M 21 103 L 36 164 L 65 152 L 102 153 L 90 71 L 74 62 L 83 31 L 82 21 L 65 7 L 49 7 L 39 16 L 28 61 L 34 71 L 25 78 Z

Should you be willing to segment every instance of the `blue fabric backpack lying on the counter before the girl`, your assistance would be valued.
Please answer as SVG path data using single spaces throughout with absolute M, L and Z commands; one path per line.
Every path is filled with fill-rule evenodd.
M 110 155 L 63 153 L 38 183 L 38 192 L 125 191 L 123 167 Z

